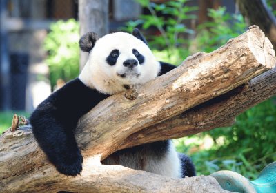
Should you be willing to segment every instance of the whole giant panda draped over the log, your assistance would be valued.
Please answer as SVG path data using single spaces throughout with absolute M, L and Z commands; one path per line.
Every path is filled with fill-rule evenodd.
M 88 32 L 79 46 L 83 52 L 90 52 L 79 77 L 53 92 L 30 116 L 39 146 L 57 171 L 68 176 L 81 174 L 82 170 L 83 157 L 74 136 L 79 118 L 108 96 L 175 68 L 155 59 L 138 29 L 132 34 L 115 32 L 101 38 Z M 177 153 L 170 140 L 119 150 L 103 164 L 174 178 L 195 176 L 190 158 Z

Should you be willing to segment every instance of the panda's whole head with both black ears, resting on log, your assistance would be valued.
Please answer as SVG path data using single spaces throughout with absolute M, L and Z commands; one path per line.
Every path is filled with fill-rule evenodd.
M 79 45 L 83 52 L 90 52 L 79 79 L 102 93 L 115 94 L 129 85 L 146 83 L 160 71 L 159 62 L 137 29 L 132 34 L 116 32 L 101 38 L 88 32 Z

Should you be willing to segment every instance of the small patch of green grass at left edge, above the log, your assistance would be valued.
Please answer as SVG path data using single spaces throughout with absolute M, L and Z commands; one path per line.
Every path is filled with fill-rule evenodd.
M 28 117 L 30 114 L 26 112 L 0 112 L 0 134 L 10 128 L 12 125 L 13 114 L 19 114 Z

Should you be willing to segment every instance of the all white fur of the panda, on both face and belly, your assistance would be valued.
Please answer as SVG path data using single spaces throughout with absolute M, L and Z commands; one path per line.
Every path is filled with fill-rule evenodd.
M 132 49 L 137 49 L 144 56 L 144 63 L 137 65 L 133 72 L 129 72 L 125 78 L 117 74 L 128 72 L 128 68 L 123 65 L 127 59 L 136 59 Z M 108 54 L 114 50 L 119 50 L 120 54 L 116 65 L 110 66 L 106 62 Z M 83 68 L 79 79 L 89 86 L 96 88 L 104 94 L 115 94 L 126 90 L 123 85 L 143 84 L 155 79 L 160 71 L 160 63 L 152 54 L 148 46 L 141 40 L 125 32 L 116 32 L 101 37 L 91 50 L 88 62 Z M 139 74 L 137 77 L 135 74 Z M 141 164 L 141 160 L 143 163 Z M 181 163 L 179 156 L 169 141 L 169 147 L 162 156 L 152 156 L 150 150 L 125 152 L 119 157 L 108 157 L 103 163 L 112 165 L 119 164 L 136 170 L 145 170 L 163 176 L 181 178 Z

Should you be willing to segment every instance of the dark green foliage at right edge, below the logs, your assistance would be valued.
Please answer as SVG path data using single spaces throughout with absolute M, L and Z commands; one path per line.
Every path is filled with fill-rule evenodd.
M 222 148 L 235 152 L 235 148 L 228 147 L 228 144 L 235 144 L 240 147 L 239 152 L 244 152 L 246 149 L 250 160 L 257 160 L 259 153 L 271 154 L 275 152 L 274 145 L 271 145 L 275 143 L 276 139 L 275 102 L 275 99 L 265 101 L 239 115 L 235 125 L 225 128 L 224 132 L 218 133 L 216 130 L 212 130 L 208 134 L 213 137 L 214 141 L 224 135 L 227 143 L 221 145 Z

